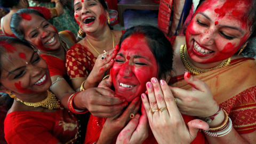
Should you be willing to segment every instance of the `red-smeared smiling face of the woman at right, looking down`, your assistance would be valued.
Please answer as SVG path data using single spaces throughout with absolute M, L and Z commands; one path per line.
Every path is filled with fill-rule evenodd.
M 213 63 L 234 55 L 250 36 L 245 13 L 251 1 L 206 0 L 197 9 L 186 31 L 189 57 Z

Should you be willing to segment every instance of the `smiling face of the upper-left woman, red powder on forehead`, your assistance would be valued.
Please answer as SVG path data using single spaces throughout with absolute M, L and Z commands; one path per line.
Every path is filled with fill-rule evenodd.
M 20 23 L 24 31 L 24 38 L 35 44 L 42 52 L 51 52 L 60 49 L 60 38 L 57 29 L 46 19 L 36 14 L 28 14 L 30 20 L 23 19 Z

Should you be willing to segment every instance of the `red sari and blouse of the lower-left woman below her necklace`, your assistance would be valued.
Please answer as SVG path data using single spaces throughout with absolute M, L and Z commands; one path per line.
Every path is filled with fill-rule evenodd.
M 55 113 L 13 111 L 4 126 L 7 143 L 70 143 L 79 135 L 78 119 L 66 109 Z

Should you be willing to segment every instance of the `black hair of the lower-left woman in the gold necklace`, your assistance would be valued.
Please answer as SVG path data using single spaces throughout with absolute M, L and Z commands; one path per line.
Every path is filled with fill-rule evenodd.
M 27 41 L 21 41 L 21 39 L 18 38 L 14 38 L 14 37 L 7 37 L 7 36 L 0 36 L 0 77 L 2 74 L 2 70 L 4 69 L 2 66 L 2 56 L 5 55 L 6 48 L 5 45 L 6 44 L 21 44 L 21 45 L 25 45 L 31 49 L 34 49 L 33 46 L 30 45 L 30 43 L 28 43 Z M 5 55 L 5 57 L 7 57 Z M 1 85 L 1 83 L 0 83 Z M 6 107 L 7 109 L 10 109 L 12 103 L 13 103 L 13 99 L 11 99 L 10 97 L 7 98 L 7 95 L 3 96 L 0 98 L 0 106 L 4 105 L 4 103 L 6 103 Z

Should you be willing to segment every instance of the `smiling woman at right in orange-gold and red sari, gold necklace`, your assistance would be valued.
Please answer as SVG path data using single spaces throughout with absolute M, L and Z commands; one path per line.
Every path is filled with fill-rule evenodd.
M 186 35 L 172 37 L 170 89 L 182 114 L 216 128 L 205 131 L 209 143 L 256 140 L 255 9 L 255 0 L 202 0 Z

